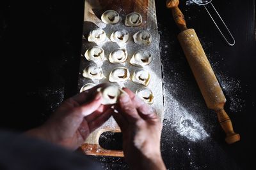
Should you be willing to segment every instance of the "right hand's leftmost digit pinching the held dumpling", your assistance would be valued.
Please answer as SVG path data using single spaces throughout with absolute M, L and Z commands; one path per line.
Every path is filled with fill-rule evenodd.
M 122 114 L 128 122 L 134 123 L 140 120 L 140 115 L 127 94 L 121 94 L 118 104 L 118 112 Z

